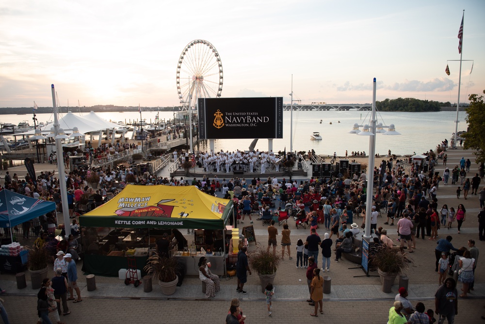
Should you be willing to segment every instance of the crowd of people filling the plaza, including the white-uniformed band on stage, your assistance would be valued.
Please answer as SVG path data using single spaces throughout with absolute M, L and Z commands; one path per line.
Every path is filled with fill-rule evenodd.
M 88 160 L 92 160 L 93 158 L 108 156 L 116 151 L 127 148 L 129 148 L 127 144 L 107 144 L 92 150 L 88 145 L 85 154 Z M 352 153 L 352 156 L 354 156 L 354 152 Z M 467 293 L 473 290 L 473 274 L 476 269 L 478 249 L 474 246 L 473 240 L 469 240 L 468 248 L 462 247 L 457 249 L 451 244 L 453 238 L 450 235 L 447 235 L 446 238 L 438 239 L 438 234 L 440 236 L 442 236 L 443 232 L 449 234 L 450 229 L 455 227 L 455 222 L 457 224 L 456 233 L 460 234 L 460 229 L 463 222 L 466 221 L 467 213 L 464 204 L 459 204 L 456 208 L 449 207 L 448 204 L 438 205 L 436 194 L 439 190 L 440 182 L 443 181 L 444 185 L 448 185 L 449 177 L 451 176 L 452 185 L 458 184 L 458 181 L 460 181 L 460 187 L 458 187 L 460 191 L 457 191 L 457 197 L 460 198 L 461 196 L 461 186 L 463 186 L 465 199 L 467 199 L 469 190 L 471 189 L 471 194 L 479 195 L 480 208 L 484 210 L 485 187 L 480 190 L 481 178 L 483 178 L 483 166 L 482 171 L 479 171 L 473 178 L 467 178 L 470 165 L 462 158 L 459 165 L 455 166 L 452 171 L 446 168 L 443 174 L 440 174 L 439 172 L 435 172 L 438 157 L 433 152 L 428 152 L 426 155 L 427 158 L 423 161 L 411 162 L 409 165 L 406 162 L 395 160 L 392 157 L 382 160 L 379 165 L 375 166 L 370 178 L 364 172 L 345 175 L 334 172 L 331 178 L 312 177 L 309 180 L 302 180 L 300 182 L 294 181 L 291 177 L 288 179 L 283 178 L 282 180 L 276 177 L 269 177 L 267 179 L 253 177 L 247 180 L 246 178 L 234 177 L 227 178 L 226 180 L 226 178 L 220 179 L 217 176 L 211 179 L 204 176 L 200 180 L 196 178 L 192 180 L 184 178 L 163 178 L 150 174 L 146 168 L 141 170 L 141 172 L 137 172 L 136 168 L 131 167 L 128 163 L 121 164 L 115 168 L 74 168 L 72 172 L 65 175 L 69 214 L 73 218 L 71 229 L 74 232 L 72 232 L 72 239 L 58 242 L 53 237 L 54 231 L 58 227 L 54 212 L 23 224 L 23 233 L 24 237 L 28 238 L 29 235 L 32 235 L 31 232 L 33 232 L 33 235 L 38 237 L 36 245 L 48 249 L 52 256 L 61 256 L 62 259 L 70 259 L 69 262 L 73 259 L 78 260 L 79 255 L 77 253 L 79 252 L 79 247 L 74 246 L 74 242 L 77 243 L 75 236 L 79 234 L 79 225 L 77 225 L 74 211 L 79 211 L 80 205 L 91 204 L 92 207 L 101 205 L 106 199 L 110 199 L 119 190 L 122 190 L 127 183 L 137 185 L 193 185 L 207 194 L 216 195 L 218 192 L 221 192 L 223 197 L 234 200 L 237 218 L 240 218 L 242 224 L 246 216 L 253 223 L 251 217 L 253 213 L 257 213 L 261 217 L 264 216 L 265 212 L 269 212 L 271 216 L 277 215 L 279 211 L 275 208 L 275 201 L 279 201 L 279 210 L 282 207 L 287 208 L 291 216 L 305 222 L 310 227 L 310 233 L 307 239 L 305 241 L 299 240 L 296 244 L 296 267 L 305 267 L 307 269 L 310 297 L 308 303 L 315 307 L 311 315 L 318 316 L 319 307 L 320 313 L 323 313 L 322 299 L 320 298 L 322 288 L 320 286 L 322 278 L 320 273 L 330 271 L 332 251 L 335 252 L 334 260 L 339 262 L 343 253 L 350 253 L 358 249 L 358 246 L 355 245 L 354 237 L 359 234 L 359 227 L 363 228 L 365 226 L 366 195 L 372 194 L 373 206 L 370 224 L 371 233 L 375 234 L 374 249 L 375 246 L 383 245 L 388 248 L 399 248 L 401 251 L 407 248 L 409 253 L 413 253 L 417 240 L 420 238 L 425 239 L 426 236 L 428 240 L 436 241 L 435 270 L 438 272 L 438 281 L 441 285 L 438 289 L 439 293 L 436 292 L 436 298 L 441 299 L 443 293 L 450 293 L 447 291 L 448 289 L 455 289 L 456 282 L 452 278 L 447 278 L 446 275 L 449 267 L 453 266 L 455 262 L 455 269 L 461 270 L 458 280 L 463 283 L 463 293 L 460 296 L 466 297 Z M 174 154 L 174 158 L 178 159 L 176 154 Z M 446 154 L 442 155 L 442 158 L 443 165 L 446 166 Z M 277 160 L 278 158 L 273 152 L 242 152 L 238 150 L 231 153 L 200 153 L 197 156 L 196 163 L 208 171 L 213 167 L 216 171 L 224 170 L 225 168 L 226 172 L 232 171 L 234 165 L 247 163 L 250 172 L 254 172 L 260 168 L 261 173 L 264 173 L 263 171 L 266 168 L 265 164 L 269 165 L 271 163 L 276 168 Z M 409 171 L 406 171 L 406 168 Z M 99 186 L 98 190 L 90 187 L 91 182 L 88 179 L 92 179 L 93 175 L 99 178 L 97 181 L 97 186 Z M 61 210 L 59 179 L 54 176 L 54 171 L 47 173 L 41 172 L 37 179 L 32 179 L 27 175 L 25 179 L 19 180 L 16 174 L 11 177 L 7 171 L 5 188 L 34 198 L 54 201 L 58 210 Z M 366 192 L 367 181 L 373 181 L 375 193 Z M 82 204 L 82 202 L 85 204 Z M 388 238 L 386 228 L 377 228 L 377 217 L 383 211 L 385 211 L 387 217 L 384 225 L 389 227 L 396 225 L 400 240 L 399 246 L 395 246 L 393 241 Z M 481 215 L 479 215 L 479 237 L 480 240 L 485 240 L 485 213 L 481 212 Z M 363 217 L 361 225 L 357 224 L 354 220 L 358 216 Z M 396 224 L 395 220 L 397 220 Z M 271 228 L 274 227 L 273 225 L 274 221 L 268 227 L 268 250 L 273 246 L 273 251 L 276 253 L 276 237 L 278 232 Z M 318 234 L 319 227 L 324 227 L 325 230 L 329 231 L 329 233 L 324 233 L 323 240 Z M 281 255 L 283 258 L 288 255 L 288 258 L 292 259 L 290 229 L 288 226 L 283 228 L 281 233 Z M 333 235 L 335 235 L 335 245 L 333 245 L 332 241 Z M 455 253 L 451 253 L 452 250 Z M 63 251 L 68 252 L 68 254 L 64 255 Z M 244 248 L 241 251 L 245 255 Z M 322 268 L 318 268 L 317 265 L 318 255 L 320 253 L 322 253 Z M 247 257 L 244 260 L 243 255 L 241 255 L 241 260 L 238 255 L 237 291 L 240 293 L 246 293 L 243 290 L 243 286 L 247 280 L 247 272 L 249 271 Z M 453 264 L 451 264 L 452 259 Z M 65 272 L 62 271 L 62 267 L 60 269 L 61 275 L 64 275 Z M 56 272 L 57 270 L 55 269 Z M 251 274 L 250 271 L 249 274 Z M 199 260 L 199 277 L 201 281 L 206 283 L 206 298 L 213 297 L 220 286 L 217 282 L 218 278 L 215 278 L 217 276 L 210 273 L 207 259 L 201 258 Z M 71 280 L 68 282 L 71 282 Z M 267 301 L 269 301 L 268 311 L 271 315 L 270 308 L 273 289 L 272 287 L 267 288 L 270 288 L 267 289 L 270 294 L 266 296 Z M 73 289 L 75 290 L 75 287 Z M 43 312 L 45 312 L 44 295 L 49 295 L 47 287 L 46 291 L 39 292 L 39 300 L 42 300 L 40 303 L 43 306 Z M 54 293 L 54 295 L 56 294 Z M 72 292 L 71 297 L 74 298 Z M 455 293 L 454 300 L 457 297 L 458 293 Z M 49 297 L 47 300 L 49 303 Z M 409 308 L 406 307 L 406 303 L 403 303 L 403 300 L 396 300 L 396 303 L 389 310 L 389 321 L 391 315 L 394 321 L 398 321 L 401 317 L 400 312 L 403 309 Z M 457 311 L 457 307 L 446 308 L 449 311 L 444 314 L 444 308 L 441 308 L 439 303 L 436 305 L 438 306 L 436 306 L 435 314 L 446 315 L 449 321 L 453 318 L 453 314 L 451 313 L 455 309 Z M 59 309 L 59 306 L 57 309 Z M 409 318 L 406 319 L 409 323 L 419 323 L 412 322 L 413 318 L 423 321 L 425 316 L 421 314 L 426 314 L 428 320 L 431 320 L 434 316 L 432 312 L 430 315 L 429 310 L 424 312 L 424 305 L 416 305 L 414 309 L 414 312 L 408 314 Z M 66 308 L 64 310 L 66 311 Z M 239 313 L 236 314 L 238 311 Z M 416 315 L 413 317 L 413 314 Z M 241 315 L 240 308 L 231 305 L 228 317 L 229 315 L 235 316 L 239 321 L 241 319 L 239 317 Z M 425 322 L 423 321 L 422 323 L 424 324 Z

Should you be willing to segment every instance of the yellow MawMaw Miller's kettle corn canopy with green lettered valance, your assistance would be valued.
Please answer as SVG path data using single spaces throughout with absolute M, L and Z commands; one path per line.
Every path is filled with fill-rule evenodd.
M 224 228 L 232 200 L 194 186 L 128 185 L 106 204 L 79 217 L 86 227 Z

